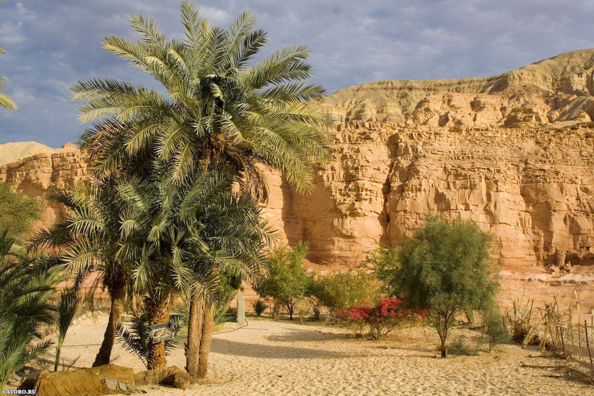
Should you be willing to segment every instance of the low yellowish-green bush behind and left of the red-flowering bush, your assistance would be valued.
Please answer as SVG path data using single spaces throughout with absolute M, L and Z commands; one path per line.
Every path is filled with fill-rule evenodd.
M 381 297 L 380 283 L 362 271 L 333 272 L 316 275 L 309 294 L 331 313 L 345 306 L 375 302 Z

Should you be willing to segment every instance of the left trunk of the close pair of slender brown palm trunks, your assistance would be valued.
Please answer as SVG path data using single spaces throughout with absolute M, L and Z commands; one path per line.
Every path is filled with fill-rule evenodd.
M 198 381 L 198 356 L 204 321 L 204 293 L 194 290 L 189 303 L 188 343 L 185 346 L 186 371 L 190 384 Z

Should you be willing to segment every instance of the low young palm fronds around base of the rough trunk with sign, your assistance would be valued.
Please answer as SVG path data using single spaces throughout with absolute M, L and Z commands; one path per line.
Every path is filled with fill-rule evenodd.
M 175 332 L 175 336 L 170 340 L 165 341 L 165 354 L 171 351 L 178 345 L 179 340 L 185 337 L 184 316 L 172 315 L 169 318 L 170 329 Z M 118 324 L 116 329 L 118 338 L 124 342 L 124 348 L 135 353 L 140 360 L 147 366 L 147 356 L 149 354 L 149 319 L 146 313 L 134 313 L 129 321 L 129 328 L 125 328 L 123 324 Z

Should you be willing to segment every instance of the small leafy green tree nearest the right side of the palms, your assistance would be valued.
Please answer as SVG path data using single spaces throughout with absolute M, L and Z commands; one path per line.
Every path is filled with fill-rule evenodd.
M 310 290 L 311 276 L 305 273 L 303 261 L 309 251 L 307 242 L 300 241 L 293 249 L 281 245 L 268 257 L 268 276 L 254 286 L 261 297 L 271 297 L 285 306 L 289 319 L 293 319 L 295 304 Z

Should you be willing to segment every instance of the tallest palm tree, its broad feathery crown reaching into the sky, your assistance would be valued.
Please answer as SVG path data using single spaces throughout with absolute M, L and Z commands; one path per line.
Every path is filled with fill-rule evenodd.
M 109 36 L 103 42 L 152 75 L 166 96 L 105 78 L 72 86 L 72 99 L 84 102 L 80 121 L 93 122 L 80 140 L 96 175 L 146 176 L 158 160 L 183 186 L 194 173 L 228 166 L 241 176 L 241 191 L 266 200 L 262 168 L 268 167 L 283 172 L 299 192 L 311 191 L 312 163 L 330 158 L 333 120 L 303 103 L 325 94 L 320 85 L 305 83 L 312 75 L 308 47 L 287 46 L 255 62 L 267 37 L 254 28 L 250 12 L 226 29 L 208 23 L 192 2 L 182 3 L 181 14 L 184 40 L 168 39 L 152 18 L 134 14 L 129 21 L 140 40 Z M 194 294 L 198 309 L 200 293 Z M 188 339 L 199 338 L 188 330 Z M 188 360 L 188 367 L 194 365 Z

